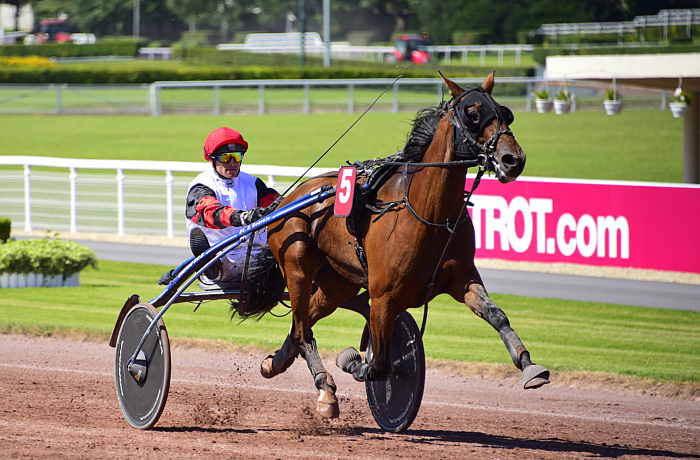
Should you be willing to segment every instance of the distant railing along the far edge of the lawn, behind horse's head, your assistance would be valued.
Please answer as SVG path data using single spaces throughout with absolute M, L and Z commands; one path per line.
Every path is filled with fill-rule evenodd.
M 0 113 L 53 114 L 255 114 L 338 112 L 355 113 L 365 109 L 393 79 L 313 79 L 313 80 L 216 80 L 169 81 L 150 85 L 67 85 L 0 84 Z M 464 85 L 480 85 L 481 78 L 455 78 Z M 514 111 L 530 112 L 533 89 L 551 88 L 561 82 L 542 77 L 498 77 L 498 99 Z M 569 92 L 579 102 L 588 97 L 600 108 L 601 97 L 609 84 L 567 82 Z M 580 88 L 580 91 L 579 89 Z M 340 91 L 326 91 L 328 88 Z M 444 83 L 439 78 L 403 78 L 382 97 L 375 111 L 415 112 L 420 107 L 443 100 Z M 586 89 L 588 88 L 588 89 Z M 181 91 L 185 90 L 185 91 Z M 276 91 L 285 93 L 277 97 Z M 345 94 L 344 94 L 345 92 Z M 186 96 L 181 96 L 186 93 Z M 330 94 L 329 94 L 330 93 Z M 665 93 L 639 90 L 625 96 L 625 110 L 634 108 L 666 109 Z M 581 104 L 580 108 L 586 108 Z

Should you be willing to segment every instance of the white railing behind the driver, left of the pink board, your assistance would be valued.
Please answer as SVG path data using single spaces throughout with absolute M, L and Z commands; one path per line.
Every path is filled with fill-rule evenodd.
M 184 235 L 187 187 L 208 163 L 0 156 L 0 166 L 7 166 L 0 169 L 0 215 L 24 231 L 116 231 L 119 235 L 174 237 Z M 303 167 L 248 164 L 241 169 L 280 192 L 306 171 Z M 109 170 L 113 174 L 105 173 Z M 313 168 L 306 177 L 328 171 Z

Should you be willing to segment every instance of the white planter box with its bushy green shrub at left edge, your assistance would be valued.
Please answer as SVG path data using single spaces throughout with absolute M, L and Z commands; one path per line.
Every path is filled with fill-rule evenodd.
M 80 271 L 97 256 L 74 241 L 10 240 L 0 244 L 0 287 L 78 286 Z

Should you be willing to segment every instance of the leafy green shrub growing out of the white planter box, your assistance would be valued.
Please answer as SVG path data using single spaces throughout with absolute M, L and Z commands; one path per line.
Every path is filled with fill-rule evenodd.
M 74 241 L 16 240 L 0 245 L 0 273 L 43 273 L 69 278 L 85 267 L 97 268 L 97 256 Z

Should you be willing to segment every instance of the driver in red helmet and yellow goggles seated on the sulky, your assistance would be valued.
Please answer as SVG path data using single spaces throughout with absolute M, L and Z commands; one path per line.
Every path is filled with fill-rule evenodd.
M 268 188 L 261 179 L 241 171 L 248 142 L 231 128 L 217 128 L 204 141 L 204 159 L 211 168 L 199 174 L 187 191 L 187 238 L 195 256 L 211 245 L 235 234 L 263 217 L 279 193 Z M 267 242 L 265 228 L 258 230 L 251 243 Z M 202 289 L 235 289 L 240 287 L 246 263 L 248 244 L 241 244 L 209 267 L 200 276 Z M 258 252 L 253 246 L 250 258 Z

